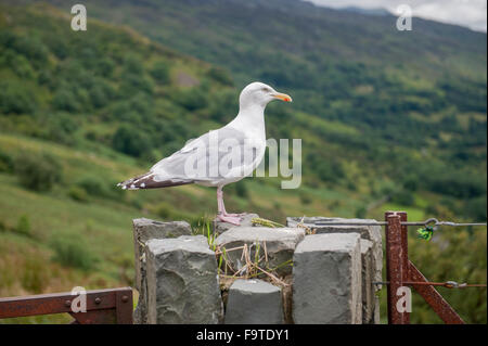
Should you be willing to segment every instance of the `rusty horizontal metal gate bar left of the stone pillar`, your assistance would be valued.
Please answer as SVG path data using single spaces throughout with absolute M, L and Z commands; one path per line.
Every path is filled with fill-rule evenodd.
M 0 319 L 67 312 L 75 323 L 132 323 L 132 289 L 87 291 L 87 312 L 73 312 L 70 292 L 0 298 Z

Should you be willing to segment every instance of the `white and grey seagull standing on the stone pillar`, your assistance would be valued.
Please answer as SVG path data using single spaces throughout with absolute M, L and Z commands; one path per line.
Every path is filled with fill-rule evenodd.
M 245 214 L 227 213 L 224 185 L 253 174 L 266 152 L 265 108 L 269 102 L 292 102 L 285 93 L 255 81 L 239 97 L 235 118 L 187 144 L 156 163 L 149 172 L 123 181 L 123 190 L 159 189 L 196 183 L 217 188 L 217 219 L 239 226 Z

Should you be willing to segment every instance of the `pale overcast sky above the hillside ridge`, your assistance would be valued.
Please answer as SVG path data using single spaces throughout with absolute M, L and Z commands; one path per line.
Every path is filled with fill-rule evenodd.
M 413 16 L 467 26 L 486 33 L 487 0 L 305 0 L 330 8 L 387 9 L 396 13 L 400 4 L 412 8 Z

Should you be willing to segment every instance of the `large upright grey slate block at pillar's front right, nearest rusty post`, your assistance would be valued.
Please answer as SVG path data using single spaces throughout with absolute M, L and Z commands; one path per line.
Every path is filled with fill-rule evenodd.
M 298 244 L 293 267 L 293 317 L 297 324 L 362 322 L 359 234 L 313 234 Z

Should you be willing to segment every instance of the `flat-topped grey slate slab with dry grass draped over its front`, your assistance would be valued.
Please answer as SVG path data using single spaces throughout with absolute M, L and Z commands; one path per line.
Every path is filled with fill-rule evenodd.
M 259 244 L 259 257 L 268 254 L 268 262 L 260 262 L 262 268 L 278 268 L 277 273 L 288 274 L 292 272 L 290 265 L 283 265 L 293 259 L 296 245 L 305 236 L 304 229 L 299 228 L 267 228 L 267 227 L 235 227 L 220 234 L 216 244 L 220 248 L 231 249 L 247 244 L 251 249 L 251 258 L 255 258 Z M 228 261 L 234 270 L 241 269 L 244 262 L 241 260 L 243 251 L 228 251 Z

